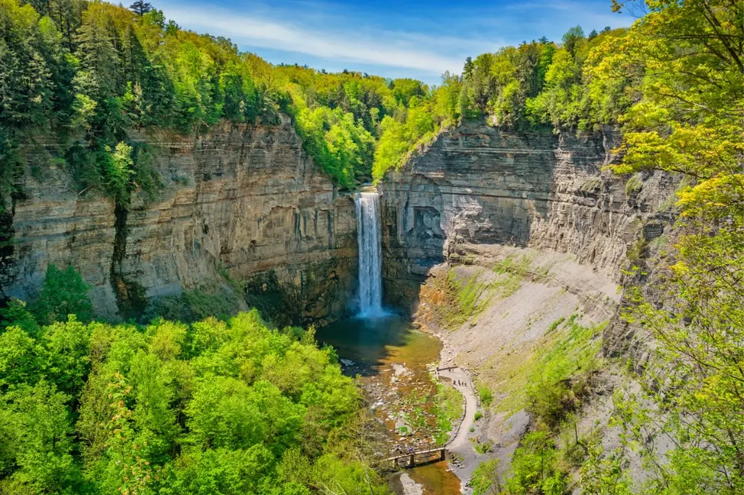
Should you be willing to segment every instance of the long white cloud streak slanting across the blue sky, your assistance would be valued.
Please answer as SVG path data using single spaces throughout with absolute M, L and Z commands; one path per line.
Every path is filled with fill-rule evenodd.
M 376 33 L 371 36 L 334 33 L 330 29 L 310 30 L 219 7 L 171 4 L 165 12 L 167 17 L 186 28 L 226 36 L 240 45 L 292 51 L 324 59 L 409 68 L 437 75 L 444 71 L 461 71 L 464 57 L 443 56 L 432 48 L 458 41 L 469 48 L 478 44 L 473 40 L 432 38 L 426 44 L 429 49 L 422 49 L 420 36 L 405 33 Z M 493 48 L 484 48 L 483 51 L 487 49 Z

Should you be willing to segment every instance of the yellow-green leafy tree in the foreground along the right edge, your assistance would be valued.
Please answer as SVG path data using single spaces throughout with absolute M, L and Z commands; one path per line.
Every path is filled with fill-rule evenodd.
M 678 195 L 676 249 L 655 268 L 653 291 L 639 284 L 630 292 L 626 312 L 659 343 L 641 378 L 676 444 L 665 459 L 647 452 L 655 462 L 644 489 L 737 494 L 744 490 L 744 7 L 722 0 L 649 7 L 606 67 L 647 68 L 643 97 L 623 119 L 625 155 L 616 169 L 682 172 L 691 185 Z M 622 418 L 632 439 L 658 421 L 642 405 Z

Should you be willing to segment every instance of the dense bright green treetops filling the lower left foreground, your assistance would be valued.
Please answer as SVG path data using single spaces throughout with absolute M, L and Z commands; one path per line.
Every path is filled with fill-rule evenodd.
M 359 392 L 312 333 L 256 311 L 0 334 L 0 491 L 384 494 Z M 349 453 L 353 453 L 349 455 Z

